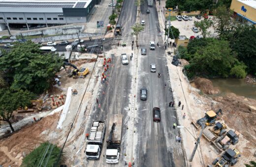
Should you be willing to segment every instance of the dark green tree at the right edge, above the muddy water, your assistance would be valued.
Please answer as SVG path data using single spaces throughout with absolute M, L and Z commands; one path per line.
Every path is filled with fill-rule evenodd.
M 235 51 L 238 60 L 245 63 L 247 71 L 256 75 L 256 28 L 244 25 L 234 33 L 233 40 L 229 42 Z

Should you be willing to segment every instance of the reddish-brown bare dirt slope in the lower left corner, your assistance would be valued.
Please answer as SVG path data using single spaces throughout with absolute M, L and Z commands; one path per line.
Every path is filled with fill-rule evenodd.
M 58 113 L 47 116 L 32 125 L 22 128 L 10 137 L 0 140 L 0 164 L 3 167 L 19 167 L 23 156 L 29 154 L 38 147 L 45 138 L 41 133 L 49 130 L 49 127 L 56 128 Z M 44 134 L 47 135 L 47 134 Z

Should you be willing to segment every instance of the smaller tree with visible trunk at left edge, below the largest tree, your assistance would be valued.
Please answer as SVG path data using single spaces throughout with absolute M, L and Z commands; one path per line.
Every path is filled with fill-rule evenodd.
M 0 89 L 0 120 L 8 122 L 12 132 L 14 132 L 11 122 L 13 111 L 31 105 L 33 97 L 34 95 L 28 90 L 15 92 L 8 88 Z

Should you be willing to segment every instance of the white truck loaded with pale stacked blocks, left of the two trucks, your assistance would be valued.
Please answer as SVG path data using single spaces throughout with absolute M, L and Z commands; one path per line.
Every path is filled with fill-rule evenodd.
M 105 129 L 105 121 L 93 121 L 89 136 L 87 138 L 86 158 L 99 158 L 105 136 Z

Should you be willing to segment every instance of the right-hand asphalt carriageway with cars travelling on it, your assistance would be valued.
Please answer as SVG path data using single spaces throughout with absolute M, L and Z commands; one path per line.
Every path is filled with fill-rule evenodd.
M 185 159 L 181 143 L 175 141 L 178 135 L 177 128 L 172 125 L 176 120 L 176 110 L 169 107 L 173 102 L 166 58 L 164 53 L 164 42 L 158 36 L 160 32 L 158 23 L 158 13 L 155 4 L 147 14 L 147 4 L 141 8 L 140 20 L 145 20 L 145 29 L 140 33 L 139 45 L 147 49 L 147 55 L 139 54 L 138 65 L 138 90 L 142 87 L 148 89 L 147 101 L 138 101 L 138 112 L 140 121 L 137 126 L 139 139 L 137 143 L 138 167 L 185 167 Z M 150 41 L 159 42 L 155 51 L 149 49 Z M 156 64 L 157 72 L 150 72 L 150 64 Z M 158 73 L 161 77 L 158 78 Z M 166 83 L 166 86 L 165 86 Z M 153 108 L 159 107 L 161 110 L 161 121 L 153 122 Z

